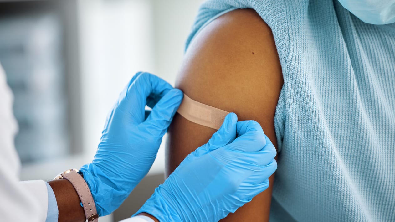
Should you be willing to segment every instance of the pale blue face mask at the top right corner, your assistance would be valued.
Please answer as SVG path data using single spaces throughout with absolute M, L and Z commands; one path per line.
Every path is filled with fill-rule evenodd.
M 395 23 L 395 0 L 339 0 L 339 2 L 365 23 Z

